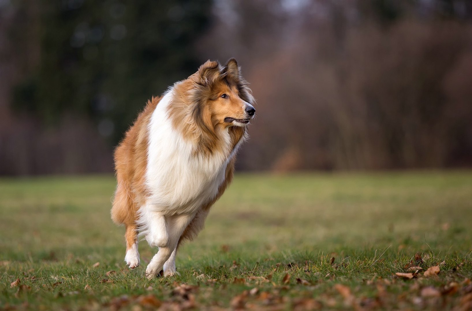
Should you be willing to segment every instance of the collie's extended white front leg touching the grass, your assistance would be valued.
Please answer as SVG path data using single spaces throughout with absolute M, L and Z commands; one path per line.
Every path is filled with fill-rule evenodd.
M 164 263 L 169 260 L 170 256 L 174 254 L 175 260 L 175 253 L 174 250 L 177 247 L 177 242 L 180 239 L 180 236 L 184 232 L 187 225 L 193 219 L 194 215 L 172 215 L 166 217 L 167 221 L 167 228 L 168 231 L 168 243 L 164 247 L 159 247 L 159 251 L 157 252 L 154 257 L 152 257 L 151 262 L 148 264 L 146 268 L 146 278 L 152 279 L 154 278 L 160 270 L 162 270 Z M 169 269 L 166 266 L 167 269 Z M 169 271 L 170 272 L 170 271 Z M 170 275 L 168 272 L 168 275 Z M 174 263 L 174 272 L 175 272 L 175 263 Z M 173 274 L 173 273 L 172 273 Z M 168 276 L 166 275 L 166 276 Z

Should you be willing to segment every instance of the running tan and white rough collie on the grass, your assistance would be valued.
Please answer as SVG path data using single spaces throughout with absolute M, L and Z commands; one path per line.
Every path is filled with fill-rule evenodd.
M 235 59 L 207 61 L 148 101 L 115 151 L 118 186 L 111 218 L 126 226 L 125 261 L 139 263 L 138 236 L 159 247 L 146 269 L 176 274 L 177 247 L 203 228 L 233 177 L 254 117 L 254 98 Z

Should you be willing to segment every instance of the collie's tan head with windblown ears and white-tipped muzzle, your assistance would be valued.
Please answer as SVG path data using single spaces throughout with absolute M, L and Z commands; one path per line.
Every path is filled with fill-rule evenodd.
M 234 58 L 224 66 L 207 61 L 189 78 L 194 83 L 191 91 L 194 117 L 207 119 L 207 126 L 211 122 L 213 128 L 245 127 L 254 117 L 251 89 Z

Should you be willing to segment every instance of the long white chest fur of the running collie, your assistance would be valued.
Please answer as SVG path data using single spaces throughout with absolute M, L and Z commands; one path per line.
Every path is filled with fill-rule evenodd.
M 172 90 L 160 100 L 149 124 L 146 181 L 151 196 L 147 204 L 166 215 L 194 213 L 217 195 L 234 152 L 229 157 L 228 152 L 193 156 L 194 145 L 172 126 L 167 109 L 171 99 Z

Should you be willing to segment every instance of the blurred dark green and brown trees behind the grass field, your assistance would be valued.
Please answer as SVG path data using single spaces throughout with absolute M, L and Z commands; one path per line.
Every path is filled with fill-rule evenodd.
M 230 57 L 239 170 L 472 166 L 472 1 L 0 0 L 0 175 L 112 172 L 147 99 Z

